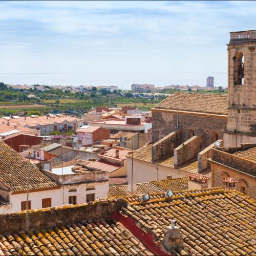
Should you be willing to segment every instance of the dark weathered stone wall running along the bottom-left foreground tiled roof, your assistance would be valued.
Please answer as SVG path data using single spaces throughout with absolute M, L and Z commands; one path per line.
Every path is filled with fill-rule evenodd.
M 121 209 L 125 201 L 100 202 L 92 205 L 57 206 L 29 210 L 29 229 L 49 228 L 64 223 L 109 219 Z M 0 233 L 15 233 L 26 230 L 26 211 L 0 215 Z

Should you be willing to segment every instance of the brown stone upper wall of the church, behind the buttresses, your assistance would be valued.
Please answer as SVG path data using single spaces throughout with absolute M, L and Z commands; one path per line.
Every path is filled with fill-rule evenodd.
M 182 142 L 189 139 L 188 130 L 194 130 L 197 136 L 201 132 L 205 133 L 204 147 L 215 142 L 213 134 L 218 134 L 218 139 L 223 139 L 223 130 L 227 124 L 227 117 L 207 117 L 201 115 L 180 114 L 168 111 L 154 110 L 152 112 L 152 140 L 158 141 L 159 134 L 167 135 L 179 129 L 182 129 Z M 159 130 L 159 131 L 158 131 Z

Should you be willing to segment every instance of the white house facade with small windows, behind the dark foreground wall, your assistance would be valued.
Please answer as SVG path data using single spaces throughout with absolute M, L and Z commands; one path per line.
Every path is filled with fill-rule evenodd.
M 88 185 L 94 185 L 94 190 L 86 190 Z M 76 192 L 69 192 L 71 187 L 76 187 Z M 51 198 L 52 206 L 63 205 L 63 195 L 64 195 L 64 204 L 69 203 L 69 196 L 77 196 L 77 204 L 86 202 L 87 194 L 95 194 L 95 199 L 106 198 L 109 192 L 109 181 L 104 182 L 92 182 L 92 183 L 82 183 L 82 184 L 71 184 L 64 185 L 63 188 L 43 190 L 38 192 L 30 192 L 29 200 L 31 200 L 31 209 L 37 209 L 42 207 L 42 199 Z M 11 207 L 8 209 L 8 212 L 19 211 L 21 210 L 21 202 L 27 200 L 27 194 L 16 194 L 10 195 L 10 204 Z M 2 211 L 6 209 L 3 208 Z M 5 207 L 6 208 L 6 207 Z

